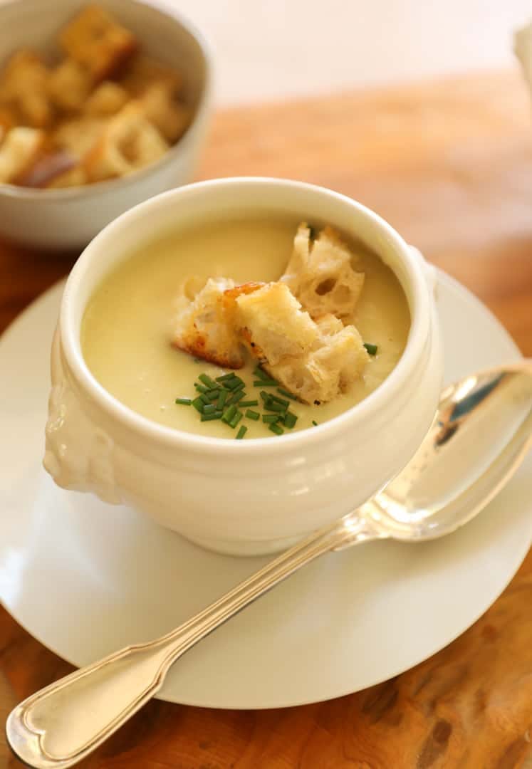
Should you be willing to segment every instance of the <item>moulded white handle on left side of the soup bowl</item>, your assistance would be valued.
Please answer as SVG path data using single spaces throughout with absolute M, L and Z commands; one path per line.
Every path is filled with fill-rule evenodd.
M 56 329 L 52 342 L 45 470 L 62 488 L 93 491 L 103 501 L 119 504 L 122 500 L 115 482 L 114 454 L 113 441 L 91 422 L 71 388 Z

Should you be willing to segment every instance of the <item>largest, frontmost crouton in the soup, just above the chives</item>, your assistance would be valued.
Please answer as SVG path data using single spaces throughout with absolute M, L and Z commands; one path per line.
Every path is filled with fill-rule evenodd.
M 305 403 L 347 391 L 369 360 L 353 325 L 334 315 L 312 320 L 284 283 L 237 295 L 234 304 L 235 324 L 251 355 Z

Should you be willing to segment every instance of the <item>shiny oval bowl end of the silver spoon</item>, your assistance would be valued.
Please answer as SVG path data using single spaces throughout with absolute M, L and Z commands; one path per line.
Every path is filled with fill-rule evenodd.
M 507 483 L 532 444 L 532 361 L 492 368 L 441 394 L 411 461 L 358 510 L 383 536 L 451 534 Z

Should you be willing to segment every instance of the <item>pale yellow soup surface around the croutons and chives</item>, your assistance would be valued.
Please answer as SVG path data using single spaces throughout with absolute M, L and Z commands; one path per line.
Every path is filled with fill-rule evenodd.
M 270 219 L 217 222 L 167 235 L 132 254 L 98 286 L 85 311 L 81 347 L 95 378 L 129 408 L 169 428 L 234 438 L 237 430 L 221 421 L 201 422 L 195 408 L 175 404 L 176 397 L 195 397 L 194 382 L 202 372 L 212 378 L 225 373 L 171 347 L 175 295 L 189 275 L 224 275 L 237 283 L 277 280 L 297 225 Z M 406 345 L 410 313 L 397 278 L 376 255 L 360 245 L 353 250 L 366 275 L 354 322 L 364 341 L 378 346 L 377 355 L 351 390 L 334 401 L 294 402 L 298 422 L 292 431 L 312 429 L 313 420 L 322 424 L 365 398 L 387 378 Z M 245 400 L 258 399 L 262 411 L 253 368 L 249 361 L 238 375 L 247 384 Z M 246 438 L 275 437 L 262 421 L 243 418 L 240 424 L 248 428 Z

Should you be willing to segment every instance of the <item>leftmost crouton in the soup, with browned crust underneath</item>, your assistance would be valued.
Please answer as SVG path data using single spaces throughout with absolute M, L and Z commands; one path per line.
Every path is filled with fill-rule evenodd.
M 233 305 L 224 301 L 224 291 L 234 288 L 234 281 L 209 278 L 199 291 L 194 284 L 185 281 L 180 288 L 172 344 L 224 368 L 242 368 L 244 356 L 234 328 Z

